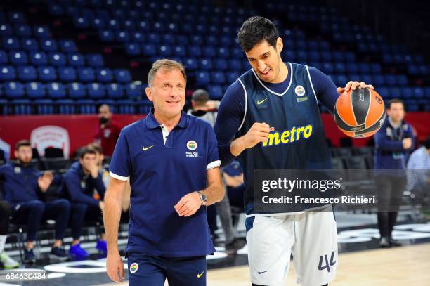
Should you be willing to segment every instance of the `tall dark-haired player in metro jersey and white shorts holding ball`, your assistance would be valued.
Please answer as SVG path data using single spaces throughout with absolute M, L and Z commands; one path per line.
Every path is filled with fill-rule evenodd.
M 283 285 L 290 254 L 299 283 L 327 285 L 337 269 L 337 230 L 331 207 L 294 215 L 258 214 L 254 211 L 253 174 L 256 169 L 331 169 L 317 100 L 332 111 L 338 92 L 373 87 L 348 82 L 337 89 L 313 67 L 284 63 L 282 39 L 266 18 L 246 20 L 237 38 L 252 69 L 227 89 L 214 128 L 223 164 L 239 156 L 244 169 L 252 285 Z M 291 135 L 288 143 L 268 141 L 271 130 L 293 134 L 309 124 L 312 132 L 306 139 Z M 265 141 L 268 144 L 263 146 Z

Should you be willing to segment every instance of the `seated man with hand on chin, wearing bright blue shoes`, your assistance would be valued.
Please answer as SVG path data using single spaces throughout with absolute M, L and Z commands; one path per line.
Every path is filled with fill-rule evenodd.
M 74 162 L 64 176 L 63 187 L 60 193 L 72 204 L 70 226 L 72 228 L 72 246 L 70 256 L 74 260 L 86 259 L 89 253 L 82 249 L 79 238 L 84 221 L 102 221 L 104 208 L 103 197 L 105 185 L 97 166 L 96 151 L 85 147 L 79 155 L 79 162 Z M 95 193 L 96 192 L 96 193 Z M 106 241 L 104 233 L 97 241 L 96 248 L 105 255 Z

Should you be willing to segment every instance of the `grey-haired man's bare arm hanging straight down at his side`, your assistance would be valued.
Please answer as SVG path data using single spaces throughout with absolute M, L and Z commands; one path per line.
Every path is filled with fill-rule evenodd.
M 122 193 L 127 181 L 110 178 L 105 193 L 103 221 L 107 240 L 106 270 L 110 279 L 115 282 L 124 280 L 124 264 L 118 251 L 118 227 L 121 219 Z

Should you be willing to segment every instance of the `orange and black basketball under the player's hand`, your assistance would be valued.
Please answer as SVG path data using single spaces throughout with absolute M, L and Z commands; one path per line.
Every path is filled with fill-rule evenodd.
M 334 121 L 344 134 L 353 138 L 372 136 L 384 119 L 384 100 L 372 89 L 344 92 L 334 105 Z

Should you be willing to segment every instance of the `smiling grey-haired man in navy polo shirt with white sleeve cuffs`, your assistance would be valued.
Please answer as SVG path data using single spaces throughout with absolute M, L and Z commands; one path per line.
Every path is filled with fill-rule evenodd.
M 223 197 L 218 150 L 209 123 L 183 112 L 186 75 L 173 60 L 148 74 L 147 117 L 124 127 L 110 162 L 105 195 L 107 274 L 124 279 L 117 248 L 122 192 L 130 179 L 129 285 L 206 285 L 215 251 L 206 206 Z

